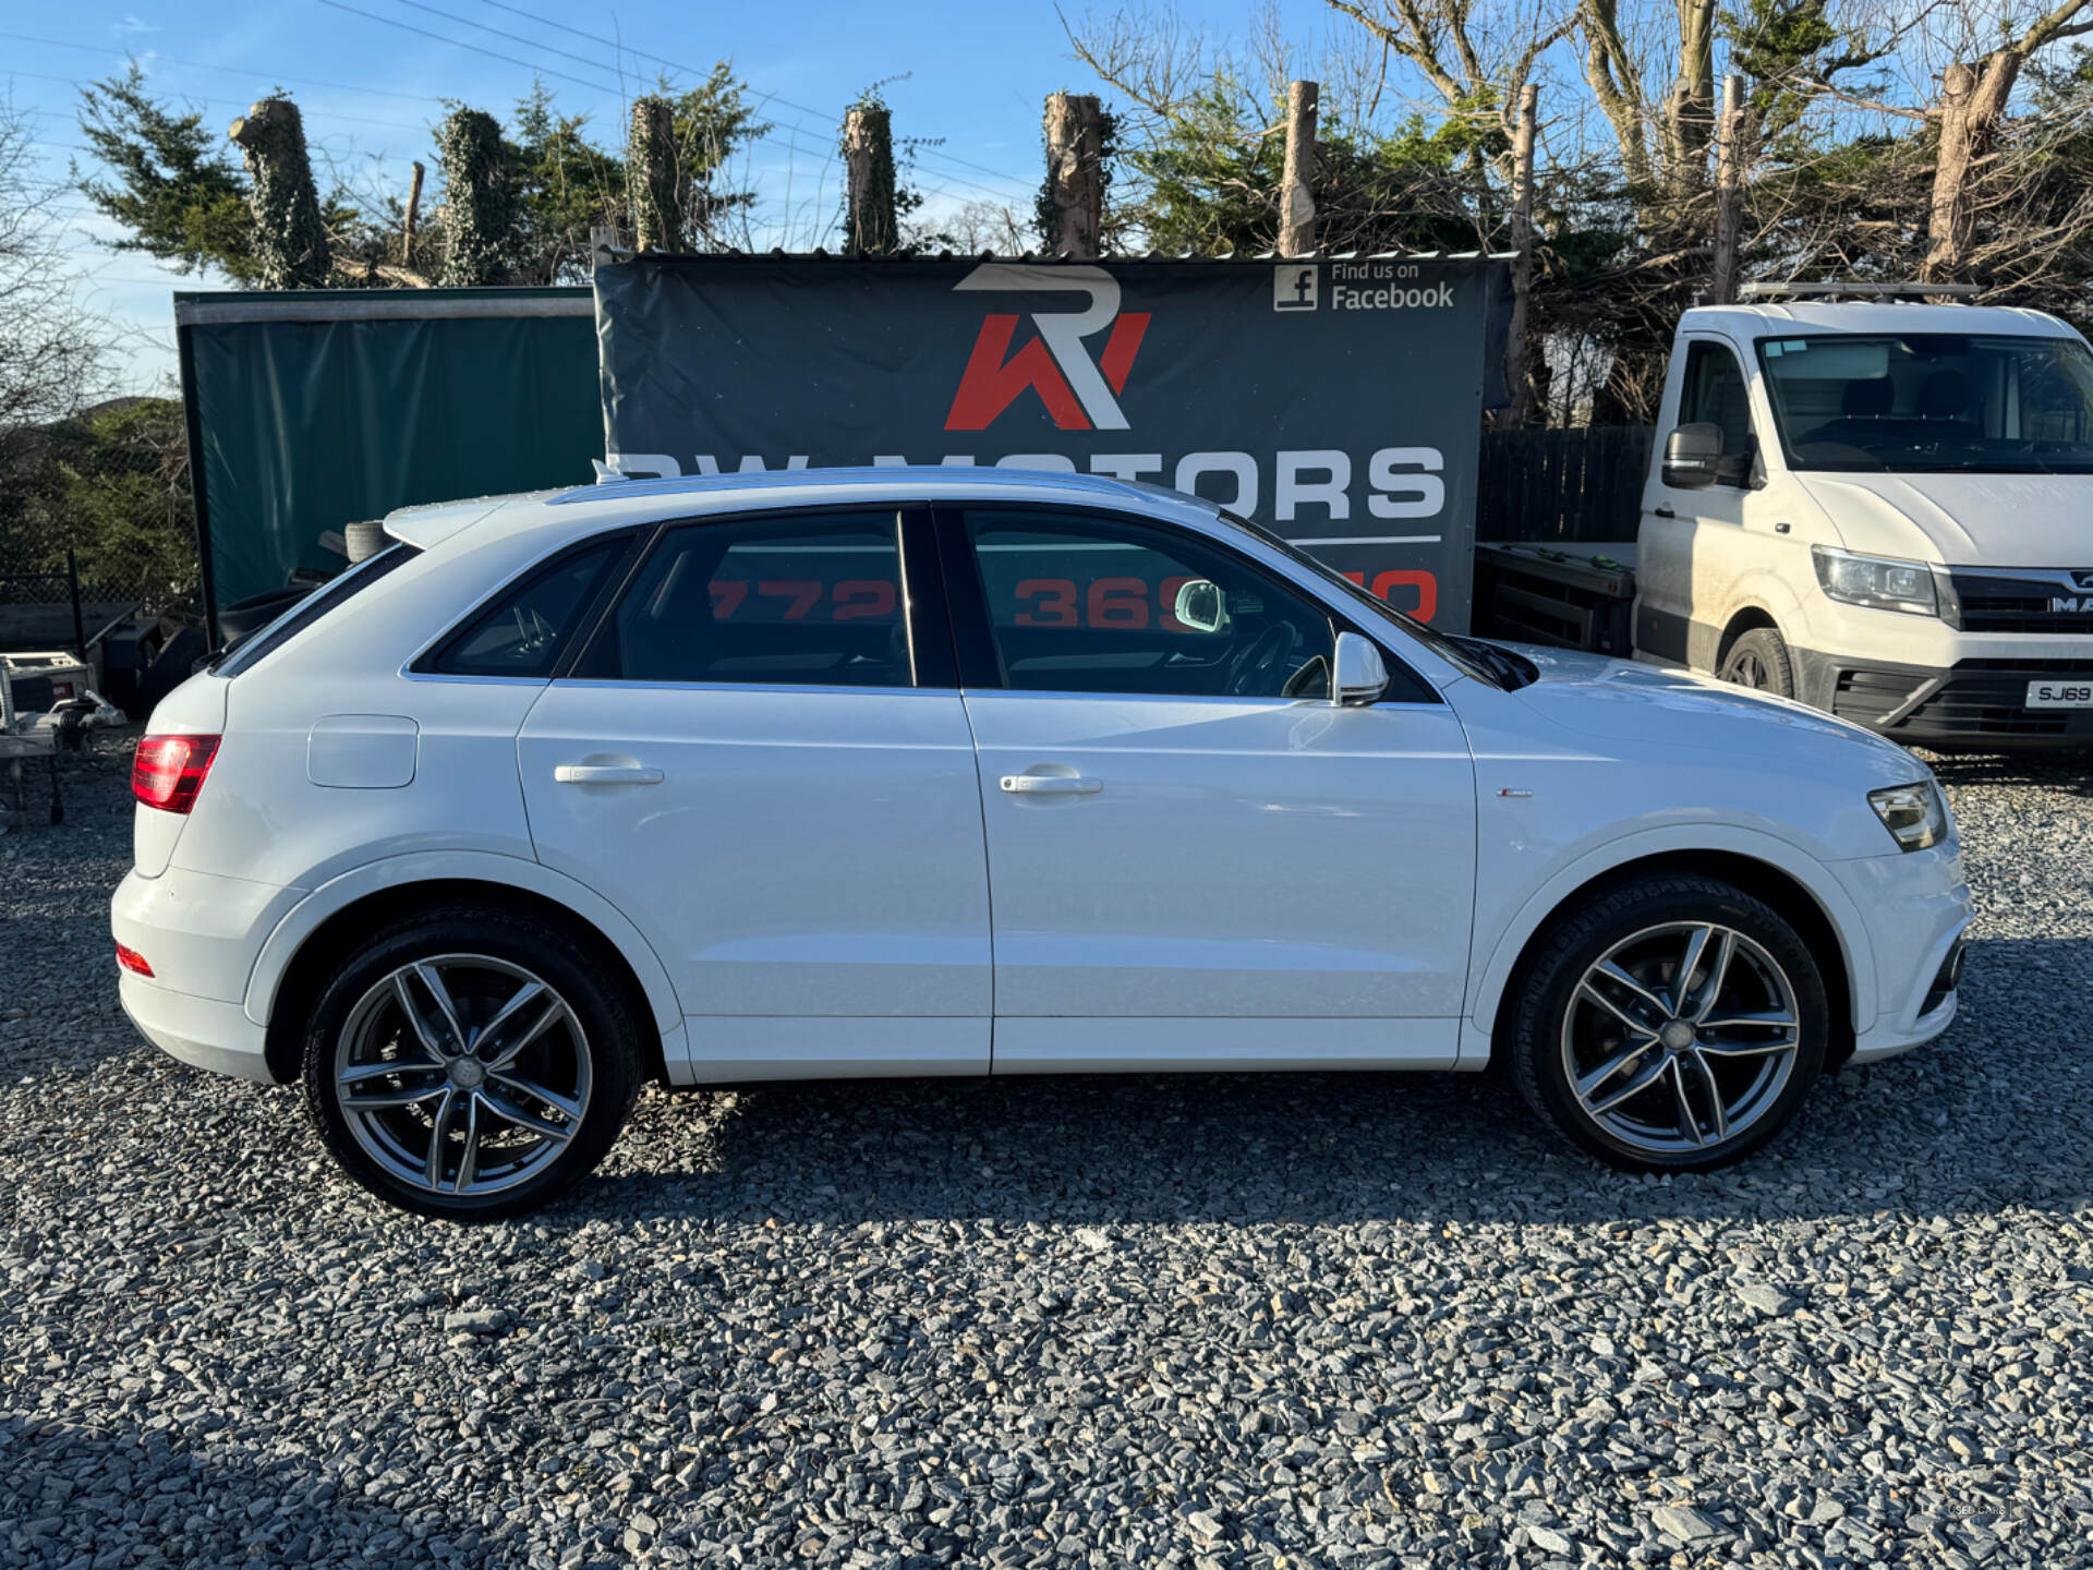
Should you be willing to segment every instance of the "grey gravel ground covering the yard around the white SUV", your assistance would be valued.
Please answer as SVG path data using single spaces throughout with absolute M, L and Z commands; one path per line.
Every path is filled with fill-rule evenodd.
M 1963 1019 L 1731 1174 L 1473 1078 L 649 1091 L 467 1231 L 132 1036 L 103 745 L 0 839 L 8 1566 L 2093 1557 L 2083 760 L 1942 764 Z

